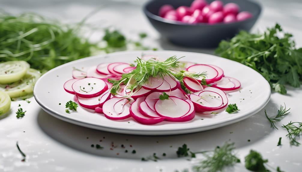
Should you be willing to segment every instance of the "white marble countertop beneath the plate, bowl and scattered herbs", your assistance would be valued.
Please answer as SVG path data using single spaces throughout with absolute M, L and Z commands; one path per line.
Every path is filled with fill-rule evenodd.
M 213 54 L 213 50 L 182 48 L 160 38 L 143 15 L 141 8 L 144 2 L 140 0 L 2 0 L 1 8 L 13 14 L 37 12 L 63 22 L 78 22 L 91 11 L 100 8 L 99 12 L 88 19 L 88 23 L 100 27 L 114 26 L 127 36 L 147 32 L 149 37 L 145 41 L 146 45 L 159 49 Z M 297 46 L 302 46 L 302 2 L 266 0 L 260 3 L 263 12 L 252 32 L 273 26 L 278 22 L 285 31 L 294 35 Z M 100 35 L 96 34 L 92 39 L 99 38 Z M 261 152 L 263 157 L 268 159 L 271 167 L 279 166 L 286 172 L 299 171 L 302 167 L 302 148 L 289 145 L 287 132 L 281 128 L 281 124 L 302 121 L 300 111 L 302 90 L 291 87 L 287 89 L 288 95 L 273 93 L 270 102 L 264 108 L 269 114 L 275 114 L 279 105 L 283 103 L 291 108 L 291 114 L 277 124 L 279 130 L 270 127 L 262 109 L 256 115 L 226 127 L 175 136 L 135 136 L 97 131 L 52 117 L 38 106 L 34 98 L 29 99 L 31 103 L 14 101 L 10 113 L 0 117 L 0 171 L 173 172 L 176 169 L 191 167 L 190 161 L 176 157 L 178 146 L 186 143 L 191 150 L 203 151 L 211 150 L 228 140 L 235 142 L 235 151 L 242 161 L 236 164 L 234 171 L 247 171 L 244 167 L 244 157 L 250 149 Z M 22 119 L 15 117 L 18 104 L 27 111 Z M 282 137 L 282 146 L 277 146 L 279 137 Z M 16 141 L 27 155 L 26 162 L 21 162 L 22 157 L 16 148 Z M 111 142 L 118 147 L 110 150 Z M 104 146 L 104 150 L 90 147 L 91 144 L 96 143 Z M 121 148 L 122 144 L 126 148 Z M 129 152 L 124 153 L 125 149 Z M 130 153 L 133 149 L 136 150 L 136 154 Z M 140 161 L 142 157 L 153 153 L 161 155 L 163 152 L 167 156 L 158 162 Z

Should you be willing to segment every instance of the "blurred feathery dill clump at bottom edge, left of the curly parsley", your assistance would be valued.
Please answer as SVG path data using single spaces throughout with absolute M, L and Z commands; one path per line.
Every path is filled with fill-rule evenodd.
M 216 172 L 239 163 L 240 159 L 233 154 L 234 149 L 234 143 L 225 143 L 221 147 L 217 146 L 212 155 L 203 154 L 204 159 L 193 166 L 193 170 L 196 172 Z

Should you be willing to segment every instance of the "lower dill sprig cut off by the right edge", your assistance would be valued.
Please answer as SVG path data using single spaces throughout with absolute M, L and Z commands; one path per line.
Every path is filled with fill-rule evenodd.
M 302 135 L 302 122 L 290 122 L 282 127 L 288 131 L 286 136 L 289 138 L 289 143 L 294 146 L 299 146 L 300 143 L 297 139 Z

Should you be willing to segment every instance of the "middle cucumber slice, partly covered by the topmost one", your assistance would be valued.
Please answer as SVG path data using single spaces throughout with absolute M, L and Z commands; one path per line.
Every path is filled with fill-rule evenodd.
M 36 69 L 28 69 L 25 76 L 11 84 L 0 84 L 0 91 L 7 93 L 11 98 L 17 98 L 31 94 L 34 84 L 40 78 L 41 73 Z

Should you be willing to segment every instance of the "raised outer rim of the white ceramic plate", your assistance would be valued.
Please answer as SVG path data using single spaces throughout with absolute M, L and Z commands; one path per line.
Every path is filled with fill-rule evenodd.
M 119 52 L 114 52 L 114 53 L 110 53 L 110 54 L 99 54 L 99 55 L 95 55 L 95 56 L 90 56 L 90 57 L 85 57 L 85 58 L 82 58 L 82 59 L 79 59 L 79 60 L 74 60 L 74 61 L 71 61 L 71 62 L 68 62 L 68 63 L 65 63 L 63 65 L 60 65 L 60 66 L 57 66 L 51 70 L 49 70 L 48 72 L 46 72 L 44 75 L 42 75 L 38 81 L 36 82 L 36 84 L 38 84 L 40 81 L 41 81 L 41 78 L 45 77 L 47 73 L 50 73 L 52 72 L 53 70 L 56 70 L 57 68 L 63 68 L 64 66 L 68 66 L 69 64 L 71 63 L 76 63 L 76 62 L 80 62 L 80 61 L 85 61 L 85 60 L 89 60 L 89 59 L 94 59 L 94 58 L 105 58 L 106 56 L 108 55 L 111 55 L 111 54 L 134 54 L 134 53 L 156 53 L 156 52 L 159 52 L 159 53 L 174 53 L 174 54 L 180 54 L 180 53 L 190 53 L 190 54 L 199 54 L 199 55 L 207 55 L 207 56 L 214 56 L 216 58 L 222 58 L 222 57 L 219 57 L 219 56 L 215 56 L 215 55 L 212 55 L 212 54 L 205 54 L 205 53 L 197 53 L 197 52 L 189 52 L 189 51 L 166 51 L 166 50 L 162 50 L 162 51 L 152 51 L 152 50 L 148 50 L 148 51 L 119 51 Z M 222 59 L 225 59 L 225 58 L 222 58 Z M 229 59 L 225 59 L 225 60 L 229 60 Z M 233 61 L 233 60 L 230 60 L 232 62 L 236 62 L 236 61 Z M 239 62 L 236 62 L 238 63 L 239 65 L 242 65 L 242 66 L 245 66 Z M 248 67 L 248 66 L 245 66 L 245 67 Z M 249 68 L 249 67 L 248 67 Z M 250 68 L 251 70 L 253 70 L 252 68 Z M 257 71 L 253 70 L 256 74 L 260 75 L 262 78 L 263 76 L 258 73 Z M 239 118 L 236 118 L 236 119 L 227 119 L 226 121 L 223 121 L 221 123 L 217 123 L 217 124 L 209 124 L 209 125 L 206 125 L 206 126 L 201 126 L 201 127 L 188 127 L 188 128 L 182 128 L 182 129 L 173 129 L 173 128 L 167 128 L 167 129 L 146 129 L 146 130 L 134 130 L 134 129 L 128 129 L 128 128 L 125 128 L 125 127 L 109 127 L 109 126 L 102 126 L 102 125 L 96 125 L 96 124 L 92 124 L 92 123 L 88 123 L 88 122 L 85 122 L 85 121 L 79 121 L 79 120 L 76 120 L 76 119 L 72 119 L 72 118 L 68 118 L 64 115 L 60 115 L 59 113 L 56 113 L 54 112 L 51 108 L 47 107 L 47 106 L 44 106 L 42 101 L 39 100 L 38 98 L 38 95 L 37 95 L 37 92 L 35 91 L 36 87 L 34 87 L 34 98 L 35 100 L 37 101 L 37 103 L 39 104 L 39 106 L 44 110 L 46 111 L 48 114 L 60 119 L 60 120 L 63 120 L 63 121 L 66 121 L 66 122 L 69 122 L 69 123 L 72 123 L 72 124 L 76 124 L 76 125 L 80 125 L 80 126 L 83 126 L 83 127 L 88 127 L 88 128 L 93 128 L 93 129 L 97 129 L 97 130 L 102 130 L 102 131 L 108 131 L 108 132 L 115 132 L 115 133 L 121 133 L 121 134 L 136 134 L 136 135 L 175 135 L 175 134 L 187 134 L 187 133 L 194 133 L 194 132 L 199 132 L 199 131 L 206 131 L 206 130 L 211 130 L 211 129 L 214 129 L 214 128 L 219 128 L 219 127 L 223 127 L 223 126 L 226 126 L 226 125 L 230 125 L 230 124 L 233 124 L 233 123 L 236 123 L 236 122 L 239 122 L 239 121 L 242 121 L 246 118 L 249 118 L 250 116 L 252 115 L 255 115 L 256 113 L 258 113 L 261 109 L 263 109 L 267 103 L 269 102 L 270 100 L 270 97 L 271 97 L 271 87 L 268 83 L 268 81 L 263 78 L 265 81 L 266 81 L 266 84 L 269 88 L 269 94 L 267 94 L 265 96 L 265 102 L 261 105 L 261 107 L 257 107 L 257 110 L 251 112 L 251 113 L 248 113 L 244 116 L 241 116 Z

